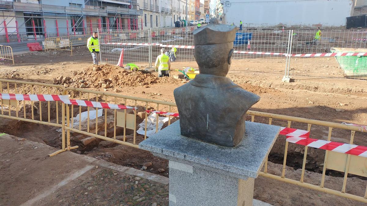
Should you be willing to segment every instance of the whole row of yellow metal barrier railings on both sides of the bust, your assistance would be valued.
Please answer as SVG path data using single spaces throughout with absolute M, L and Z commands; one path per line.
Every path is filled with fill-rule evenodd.
M 39 87 L 38 90 L 34 87 Z M 18 115 L 18 104 L 12 104 L 12 102 L 5 102 L 5 100 L 1 100 L 1 115 L 0 117 L 4 118 L 11 118 L 11 119 L 18 119 L 21 121 L 28 121 L 28 122 L 34 122 L 39 124 L 46 124 L 50 126 L 57 126 L 62 128 L 62 148 L 61 150 L 54 152 L 50 154 L 50 156 L 58 154 L 59 152 L 71 150 L 75 147 L 70 146 L 70 131 L 96 137 L 99 139 L 112 141 L 119 144 L 124 144 L 126 146 L 131 146 L 138 148 L 138 141 L 137 140 L 137 116 L 139 114 L 145 114 L 145 117 L 142 117 L 140 115 L 141 119 L 143 121 L 145 120 L 145 123 L 147 123 L 147 117 L 148 113 L 146 110 L 157 110 L 157 111 L 167 111 L 168 112 L 177 112 L 177 107 L 175 103 L 171 102 L 163 102 L 163 101 L 157 101 L 157 100 L 151 100 L 151 99 L 143 99 L 143 98 L 136 98 L 131 96 L 125 96 L 125 95 L 118 95 L 118 94 L 112 94 L 112 93 L 105 93 L 105 92 L 98 92 L 98 91 L 90 91 L 86 89 L 80 89 L 80 88 L 63 88 L 62 86 L 58 85 L 50 85 L 50 84 L 41 84 L 41 83 L 34 83 L 34 82 L 23 82 L 23 81 L 14 81 L 14 80 L 3 80 L 0 79 L 0 92 L 3 92 L 3 88 L 6 88 L 6 91 L 8 93 L 23 93 L 23 94 L 34 94 L 34 93 L 40 93 L 44 94 L 45 91 L 48 94 L 63 94 L 63 95 L 70 95 L 71 99 L 85 99 L 90 101 L 97 101 L 97 102 L 105 102 L 105 103 L 115 103 L 115 104 L 124 104 L 129 105 L 132 107 L 136 107 L 136 110 L 116 110 L 116 109 L 102 109 L 104 110 L 104 117 L 102 115 L 103 121 L 101 123 L 104 123 L 104 130 L 98 131 L 98 108 L 96 110 L 91 110 L 90 107 L 87 107 L 87 126 L 86 128 L 82 128 L 80 121 L 81 115 L 79 115 L 79 124 L 77 126 L 74 126 L 74 113 L 81 113 L 82 107 L 81 106 L 73 106 L 73 105 L 65 105 L 61 104 L 61 121 L 59 121 L 59 110 L 58 110 L 58 104 L 56 104 L 56 120 L 52 122 L 50 119 L 50 102 L 48 102 L 48 118 L 47 120 L 44 120 L 42 117 L 41 112 L 41 104 L 39 104 L 39 111 L 40 111 L 40 117 L 36 118 L 33 116 L 33 102 L 32 104 L 32 117 L 27 118 L 26 112 L 25 112 L 25 102 L 23 101 L 23 118 L 19 117 Z M 53 88 L 53 89 L 51 89 Z M 45 90 L 46 89 L 46 90 Z M 62 92 L 62 93 L 61 93 Z M 101 101 L 99 101 L 101 100 Z M 8 115 L 5 115 L 5 106 L 8 106 Z M 11 114 L 11 106 L 15 107 L 15 116 Z M 74 108 L 75 107 L 75 108 Z M 85 110 L 85 108 L 84 108 Z M 90 124 L 90 114 L 94 113 L 96 115 L 95 117 L 95 128 L 90 128 L 92 125 Z M 286 124 L 282 126 L 291 127 L 292 122 L 297 122 L 297 124 L 307 124 L 307 129 L 310 131 L 312 125 L 315 125 L 317 127 L 324 126 L 328 128 L 328 136 L 327 140 L 331 140 L 332 131 L 333 129 L 344 129 L 350 131 L 350 139 L 349 143 L 353 144 L 353 140 L 356 133 L 364 134 L 364 132 L 367 132 L 366 130 L 361 130 L 359 126 L 350 126 L 350 125 L 344 125 L 344 124 L 338 124 L 333 122 L 326 122 L 326 121 L 319 121 L 314 119 L 306 119 L 306 118 L 299 118 L 299 117 L 290 117 L 286 115 L 278 115 L 278 114 L 270 114 L 270 113 L 264 113 L 264 112 L 258 112 L 258 111 L 248 111 L 248 115 L 251 116 L 251 121 L 255 121 L 255 117 L 260 118 L 261 122 L 264 123 L 264 121 L 268 121 L 268 124 L 273 124 L 275 121 L 286 121 Z M 110 118 L 112 117 L 112 118 Z M 156 114 L 156 119 L 158 119 L 159 116 Z M 171 117 L 168 117 L 168 125 L 171 123 Z M 265 119 L 264 119 L 265 118 Z M 65 120 L 66 119 L 66 120 Z M 141 120 L 140 119 L 140 120 Z M 268 119 L 268 120 L 266 120 Z M 65 122 L 66 121 L 66 122 Z M 61 123 L 60 123 L 61 122 Z M 108 122 L 113 122 L 112 125 L 112 133 L 111 130 L 108 128 Z M 281 124 L 278 122 L 278 124 Z M 145 134 L 143 136 L 143 139 L 146 139 L 147 135 L 147 128 L 145 124 Z M 94 126 L 94 125 L 93 125 Z M 298 127 L 298 126 L 297 126 Z M 123 135 L 120 136 L 120 139 L 117 138 L 117 128 L 122 128 L 123 130 L 121 133 Z M 127 131 L 131 132 L 131 136 L 128 139 Z M 155 132 L 158 132 L 158 124 L 156 124 L 156 130 Z M 109 134 L 110 133 L 110 134 Z M 66 137 L 66 138 L 65 138 Z M 132 138 L 131 138 L 132 137 Z M 65 145 L 66 143 L 66 145 Z M 299 185 L 302 187 L 310 188 L 317 191 L 326 192 L 329 194 L 338 195 L 341 197 L 353 199 L 360 202 L 367 203 L 367 190 L 365 191 L 364 196 L 357 196 L 353 194 L 346 193 L 346 182 L 347 182 L 347 176 L 348 174 L 356 174 L 359 176 L 367 177 L 367 168 L 364 166 L 365 164 L 362 163 L 363 161 L 366 161 L 366 158 L 358 157 L 355 155 L 350 154 L 334 154 L 336 152 L 332 151 L 325 151 L 325 157 L 324 157 L 324 166 L 323 166 L 323 172 L 320 180 L 320 185 L 314 185 L 304 182 L 304 174 L 305 174 L 305 165 L 306 165 L 306 157 L 307 157 L 307 151 L 308 147 L 305 146 L 304 151 L 304 158 L 302 163 L 302 170 L 301 170 L 301 177 L 299 180 L 293 180 L 286 177 L 286 161 L 287 161 L 287 152 L 288 152 L 288 142 L 285 143 L 285 149 L 284 149 L 284 159 L 283 159 L 283 167 L 281 170 L 280 175 L 276 174 L 270 174 L 268 173 L 268 159 L 265 160 L 264 163 L 264 169 L 262 172 L 260 172 L 261 176 L 269 177 L 271 179 L 284 181 L 286 183 L 291 183 L 295 185 Z M 339 156 L 338 156 L 339 155 Z M 344 155 L 342 158 L 340 158 L 340 155 Z M 356 158 L 357 157 L 357 158 Z M 335 158 L 338 158 L 338 161 L 335 161 Z M 341 161 L 341 159 L 344 159 L 344 161 Z M 362 162 L 361 162 L 362 161 Z M 337 164 L 337 167 L 335 167 L 335 164 Z M 330 188 L 324 187 L 324 181 L 326 176 L 326 170 L 327 169 L 334 169 L 338 170 L 340 172 L 344 172 L 344 179 L 342 183 L 341 191 L 333 190 Z M 356 172 L 357 171 L 357 172 Z

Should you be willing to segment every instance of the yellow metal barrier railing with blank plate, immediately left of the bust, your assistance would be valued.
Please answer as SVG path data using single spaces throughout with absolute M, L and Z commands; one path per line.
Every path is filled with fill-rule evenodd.
M 123 105 L 129 105 L 131 107 L 135 107 L 137 108 L 136 110 L 116 110 L 116 109 L 103 109 L 104 110 L 104 132 L 99 132 L 98 131 L 98 108 L 95 108 L 95 110 L 91 110 L 91 107 L 87 108 L 87 126 L 86 128 L 81 126 L 81 115 L 79 115 L 79 126 L 77 126 L 77 128 L 74 128 L 74 117 L 73 114 L 75 111 L 75 106 L 74 105 L 66 105 L 66 126 L 65 126 L 65 130 L 67 130 L 67 136 L 66 136 L 66 141 L 69 142 L 70 140 L 70 131 L 72 132 L 76 132 L 76 133 L 80 133 L 80 134 L 84 134 L 84 135 L 88 135 L 88 136 L 92 136 L 92 137 L 96 137 L 99 139 L 103 139 L 103 140 L 108 140 L 108 141 L 112 141 L 115 143 L 119 143 L 119 144 L 124 144 L 127 146 L 131 146 L 131 147 L 135 147 L 138 148 L 138 144 L 137 144 L 137 140 L 136 140 L 136 134 L 137 134 L 137 113 L 139 111 L 141 111 L 142 113 L 145 114 L 145 122 L 147 122 L 147 118 L 148 118 L 148 113 L 146 112 L 146 110 L 149 109 L 149 104 L 154 104 L 156 110 L 159 109 L 168 109 L 169 111 L 171 111 L 171 107 L 175 106 L 175 103 L 170 103 L 170 102 L 163 102 L 163 101 L 157 101 L 157 100 L 151 100 L 151 99 L 143 99 L 143 98 L 135 98 L 135 97 L 131 97 L 131 96 L 125 96 L 125 95 L 118 95 L 118 94 L 113 94 L 113 93 L 105 93 L 105 92 L 98 92 L 98 91 L 90 91 L 90 90 L 86 90 L 86 89 L 79 89 L 79 88 L 66 88 L 65 91 L 63 92 L 63 95 L 71 95 L 70 98 L 74 99 L 76 97 L 76 94 L 79 96 L 79 99 L 85 99 L 88 101 L 96 101 L 96 102 L 104 102 L 104 103 L 114 103 L 114 104 L 123 104 Z M 102 100 L 102 101 L 98 101 L 98 100 Z M 81 113 L 81 106 L 76 106 L 79 107 L 79 113 Z M 101 110 L 101 109 L 99 109 Z M 90 129 L 91 124 L 91 118 L 90 118 L 90 114 L 94 113 L 95 114 L 95 125 L 93 125 L 94 128 Z M 71 115 L 70 115 L 71 114 Z M 113 118 L 110 118 L 112 117 Z M 158 119 L 159 116 L 158 114 L 156 114 L 156 119 Z M 168 124 L 171 123 L 171 117 L 168 117 Z M 110 136 L 107 135 L 107 124 L 108 124 L 108 119 L 113 121 L 113 134 L 111 134 Z M 71 121 L 71 122 L 70 122 Z M 146 125 L 145 124 L 145 135 L 144 135 L 144 139 L 146 139 Z M 116 139 L 116 128 L 120 127 L 123 128 L 123 138 Z M 132 133 L 131 135 L 133 136 L 133 139 L 131 140 L 131 142 L 128 142 L 128 140 L 126 139 L 127 135 L 126 132 L 127 130 L 130 130 Z M 158 124 L 156 124 L 156 132 L 158 132 L 159 128 L 158 128 Z M 68 148 L 70 146 L 68 145 Z

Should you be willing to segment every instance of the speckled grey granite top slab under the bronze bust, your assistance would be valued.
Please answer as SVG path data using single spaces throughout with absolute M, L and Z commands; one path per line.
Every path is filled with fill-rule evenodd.
M 256 178 L 280 127 L 246 121 L 246 133 L 236 147 L 223 147 L 181 135 L 179 120 L 139 144 L 139 148 L 177 161 Z

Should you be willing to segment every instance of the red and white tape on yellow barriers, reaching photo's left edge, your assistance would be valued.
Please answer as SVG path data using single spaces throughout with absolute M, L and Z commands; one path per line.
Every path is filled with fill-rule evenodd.
M 0 99 L 9 100 L 26 100 L 26 101 L 61 101 L 65 104 L 73 104 L 77 106 L 87 106 L 95 108 L 105 108 L 105 109 L 135 109 L 134 107 L 124 106 L 120 104 L 110 104 L 103 102 L 92 102 L 86 100 L 76 100 L 69 99 L 68 95 L 23 95 L 23 94 L 8 94 L 0 93 Z

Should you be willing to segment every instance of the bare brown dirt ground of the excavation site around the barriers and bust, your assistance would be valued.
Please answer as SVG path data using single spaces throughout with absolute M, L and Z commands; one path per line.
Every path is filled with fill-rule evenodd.
M 91 56 L 85 48 L 76 48 L 73 50 L 73 56 L 70 56 L 70 53 L 67 51 L 58 50 L 33 52 L 16 55 L 15 66 L 10 65 L 10 62 L 7 60 L 2 61 L 2 65 L 0 65 L 0 78 L 53 84 L 55 78 L 63 76 L 70 77 L 71 79 L 77 78 L 77 80 L 80 81 L 81 74 L 84 72 L 87 73 L 88 68 L 89 70 L 93 68 L 91 62 Z M 146 63 L 137 65 L 142 68 L 148 67 Z M 182 68 L 183 66 L 195 67 L 195 65 L 195 62 L 178 61 L 172 63 L 173 68 Z M 290 76 L 294 78 L 294 82 L 283 83 L 281 82 L 281 78 L 284 76 L 284 65 L 284 59 L 274 57 L 235 59 L 232 61 L 231 69 L 227 77 L 244 89 L 261 96 L 261 100 L 255 104 L 251 110 L 329 122 L 347 122 L 367 125 L 366 80 L 344 78 L 342 69 L 334 58 L 294 58 L 292 59 L 290 71 Z M 155 72 L 152 74 L 157 75 Z M 171 74 L 178 75 L 180 73 L 178 71 L 172 71 Z M 90 76 L 92 77 L 93 74 L 91 73 Z M 82 83 L 84 84 L 84 82 Z M 71 86 L 71 84 L 72 83 L 66 83 L 66 85 L 60 85 Z M 183 83 L 182 80 L 171 78 L 169 81 L 157 81 L 156 83 L 152 80 L 149 85 L 114 85 L 114 82 L 111 82 L 112 85 L 110 87 L 103 88 L 102 84 L 103 83 L 98 85 L 87 84 L 86 89 L 174 102 L 173 90 L 185 83 Z M 79 82 L 75 86 L 80 87 Z M 5 89 L 5 84 L 3 84 L 3 89 Z M 118 89 L 118 91 L 116 91 L 116 89 Z M 168 108 L 163 107 L 160 108 L 160 110 L 168 111 Z M 173 110 L 175 110 L 175 108 L 173 108 Z M 249 119 L 250 117 L 248 117 L 248 120 Z M 267 123 L 268 119 L 257 117 L 255 121 Z M 273 124 L 284 126 L 287 122 L 273 120 Z M 1 124 L 0 132 L 6 132 L 49 145 L 55 141 L 55 136 L 59 135 L 59 133 L 55 132 L 56 128 L 47 130 L 47 126 L 42 126 L 42 128 L 40 128 L 33 125 L 29 126 L 29 124 L 26 126 L 25 124 L 18 123 L 10 129 L 7 125 L 6 122 Z M 301 123 L 292 123 L 292 127 L 307 129 L 307 125 Z M 40 130 L 42 131 L 40 132 Z M 48 131 L 51 130 L 52 132 L 48 133 Z M 327 132 L 327 127 L 312 126 L 311 128 L 311 135 L 316 139 L 326 139 Z M 354 144 L 366 146 L 366 137 L 366 133 L 357 132 Z M 331 140 L 349 143 L 349 138 L 350 131 L 335 129 L 333 130 Z M 270 153 L 270 161 L 282 163 L 284 142 L 284 137 L 278 138 Z M 290 172 L 292 172 L 293 169 L 298 171 L 297 169 L 300 168 L 303 159 L 303 150 L 304 147 L 290 144 L 290 148 L 288 148 L 288 154 L 290 156 L 287 158 L 287 166 L 291 167 L 288 168 Z M 152 162 L 152 166 L 147 169 L 148 172 L 168 176 L 167 161 L 156 158 L 149 152 L 142 152 L 141 150 L 127 146 L 115 145 L 115 147 L 106 148 L 96 147 L 91 151 L 87 151 L 85 154 L 89 157 L 98 157 L 105 161 L 137 169 L 140 169 L 145 162 Z M 322 170 L 323 157 L 323 150 L 309 148 L 306 169 L 319 173 Z M 158 172 L 158 169 L 164 169 L 166 171 Z M 333 171 L 328 171 L 328 174 L 332 173 Z M 340 174 L 334 172 L 333 176 L 339 178 L 338 176 L 340 176 Z M 258 191 L 262 191 L 268 187 L 268 185 L 261 184 L 261 182 L 262 181 L 258 181 L 257 186 L 255 185 Z M 348 182 L 348 184 L 350 183 Z M 365 188 L 365 186 L 363 187 Z M 297 194 L 302 193 L 302 188 L 300 187 L 294 187 L 294 190 L 298 190 Z M 291 193 L 294 191 L 289 192 Z M 359 194 L 361 191 L 357 191 L 356 193 L 358 195 L 363 195 Z M 258 192 L 257 197 L 257 199 L 273 205 L 283 205 L 281 204 L 282 201 L 278 200 L 277 202 L 275 200 L 276 198 L 274 195 Z M 320 205 L 324 203 L 324 199 L 317 196 L 313 204 Z M 335 204 L 338 203 L 335 202 Z M 346 202 L 346 204 L 348 204 L 348 202 Z M 302 203 L 298 201 L 296 205 L 302 205 Z

